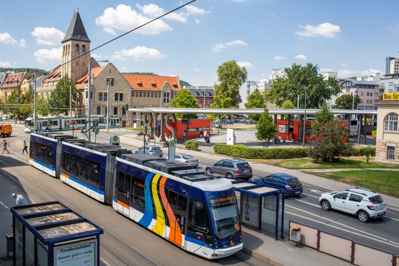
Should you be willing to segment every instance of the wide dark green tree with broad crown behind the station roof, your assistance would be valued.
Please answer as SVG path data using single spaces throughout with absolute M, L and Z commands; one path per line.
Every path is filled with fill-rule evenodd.
M 266 93 L 266 99 L 281 107 L 284 101 L 290 100 L 297 103 L 298 95 L 305 93 L 306 108 L 319 108 L 325 100 L 330 100 L 332 95 L 338 95 L 341 91 L 339 82 L 334 77 L 325 80 L 318 74 L 317 65 L 307 63 L 306 66 L 293 64 L 291 68 L 285 68 L 286 76 L 278 77 L 273 82 L 273 87 Z M 304 107 L 304 95 L 301 96 L 301 108 Z

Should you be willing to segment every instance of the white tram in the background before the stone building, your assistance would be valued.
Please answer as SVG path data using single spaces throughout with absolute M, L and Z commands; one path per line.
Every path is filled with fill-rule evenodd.
M 91 119 L 93 122 L 100 122 L 98 127 L 105 128 L 106 117 L 104 115 L 92 115 Z M 71 130 L 74 129 L 82 129 L 86 125 L 87 116 L 72 116 L 72 124 L 70 125 L 70 116 L 45 116 L 36 118 L 36 131 L 44 131 L 47 127 L 50 127 L 52 131 L 58 130 Z M 118 128 L 119 127 L 119 116 L 110 116 L 109 117 L 109 127 L 110 128 Z M 33 129 L 33 118 L 29 117 L 25 120 L 25 133 L 31 133 Z

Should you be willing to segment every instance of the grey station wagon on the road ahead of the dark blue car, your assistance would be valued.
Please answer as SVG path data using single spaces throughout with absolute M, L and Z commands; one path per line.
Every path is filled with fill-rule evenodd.
M 252 167 L 247 161 L 240 159 L 224 159 L 214 164 L 208 164 L 205 172 L 242 180 L 248 180 L 252 177 Z

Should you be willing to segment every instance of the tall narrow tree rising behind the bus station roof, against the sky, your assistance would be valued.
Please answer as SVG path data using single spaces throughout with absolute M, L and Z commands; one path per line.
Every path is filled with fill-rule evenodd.
M 241 102 L 238 88 L 248 76 L 245 67 L 240 67 L 235 60 L 231 60 L 219 65 L 216 72 L 219 84 L 214 85 L 215 96 L 230 98 L 230 106 L 238 108 Z

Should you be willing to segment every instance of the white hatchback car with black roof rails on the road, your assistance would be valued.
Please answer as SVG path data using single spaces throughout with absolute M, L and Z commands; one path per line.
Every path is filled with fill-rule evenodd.
M 323 193 L 319 204 L 324 211 L 334 209 L 356 215 L 362 223 L 387 214 L 384 199 L 376 192 L 362 188 Z

